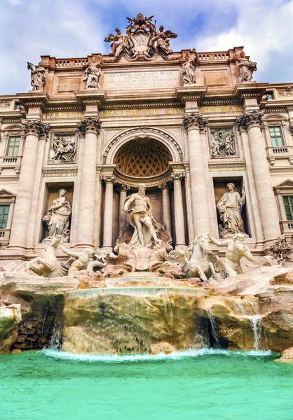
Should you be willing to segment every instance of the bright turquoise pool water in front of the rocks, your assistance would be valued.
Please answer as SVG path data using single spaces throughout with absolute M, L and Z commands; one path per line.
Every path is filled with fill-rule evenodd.
M 292 420 L 293 365 L 275 355 L 0 355 L 1 420 Z

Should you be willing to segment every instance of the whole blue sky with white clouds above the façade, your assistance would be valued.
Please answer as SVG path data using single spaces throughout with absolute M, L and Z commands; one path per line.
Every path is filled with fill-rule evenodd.
M 0 0 L 0 94 L 27 92 L 40 55 L 109 52 L 104 37 L 139 12 L 178 34 L 173 50 L 244 45 L 254 80 L 293 85 L 293 0 Z

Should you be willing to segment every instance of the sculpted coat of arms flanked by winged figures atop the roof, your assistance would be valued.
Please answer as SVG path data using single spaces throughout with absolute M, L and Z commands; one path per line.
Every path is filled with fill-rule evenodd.
M 152 19 L 153 16 L 147 18 L 142 13 L 136 18 L 127 18 L 129 25 L 125 35 L 116 28 L 116 34 L 104 38 L 105 42 L 111 43 L 110 55 L 120 57 L 125 52 L 125 55 L 132 59 L 149 59 L 156 52 L 164 56 L 170 54 L 172 50 L 169 38 L 176 38 L 177 34 L 165 31 L 163 26 L 157 31 Z

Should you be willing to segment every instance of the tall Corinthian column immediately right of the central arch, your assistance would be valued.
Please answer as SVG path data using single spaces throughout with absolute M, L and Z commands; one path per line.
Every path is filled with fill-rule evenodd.
M 195 235 L 209 232 L 210 230 L 205 169 L 200 144 L 200 127 L 205 127 L 206 125 L 207 120 L 203 120 L 202 114 L 192 113 L 184 115 L 183 126 L 187 131 L 189 147 L 191 202 Z

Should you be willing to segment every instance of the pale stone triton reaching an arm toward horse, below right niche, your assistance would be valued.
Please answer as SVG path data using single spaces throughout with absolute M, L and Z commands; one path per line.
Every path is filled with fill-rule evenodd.
M 243 274 L 240 260 L 245 257 L 247 260 L 254 262 L 252 253 L 248 246 L 244 245 L 244 235 L 242 233 L 236 233 L 231 239 L 214 239 L 210 237 L 210 241 L 217 246 L 227 246 L 224 267 L 229 277 L 237 276 L 237 274 Z

